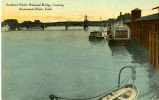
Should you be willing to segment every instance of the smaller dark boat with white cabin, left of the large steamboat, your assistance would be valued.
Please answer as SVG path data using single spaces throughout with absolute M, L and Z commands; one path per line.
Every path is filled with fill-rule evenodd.
M 90 32 L 89 39 L 104 39 L 107 36 L 107 28 L 100 28 L 100 31 Z

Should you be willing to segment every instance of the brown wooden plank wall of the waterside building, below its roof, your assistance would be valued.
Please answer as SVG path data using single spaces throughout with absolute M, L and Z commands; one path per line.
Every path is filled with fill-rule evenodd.
M 159 19 L 126 23 L 132 39 L 149 50 L 150 63 L 159 70 Z

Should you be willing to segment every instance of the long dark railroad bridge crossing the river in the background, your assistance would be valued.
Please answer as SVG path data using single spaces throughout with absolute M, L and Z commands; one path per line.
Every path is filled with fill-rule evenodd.
M 40 22 L 40 20 L 35 20 L 34 22 L 24 21 L 23 23 L 19 24 L 18 27 L 19 28 L 25 27 L 27 29 L 40 28 L 44 30 L 45 28 L 52 27 L 52 26 L 65 26 L 65 29 L 68 30 L 69 27 L 78 26 L 78 27 L 83 27 L 84 30 L 88 30 L 89 26 L 101 26 L 101 25 L 106 26 L 107 25 L 106 20 L 105 21 L 89 21 L 88 18 L 93 19 L 85 15 L 84 21 L 63 21 L 63 22 L 48 22 L 48 23 L 42 23 Z

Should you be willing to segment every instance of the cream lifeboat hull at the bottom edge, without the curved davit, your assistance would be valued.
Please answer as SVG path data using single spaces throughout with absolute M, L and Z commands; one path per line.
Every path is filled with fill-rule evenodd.
M 99 100 L 136 100 L 138 93 L 137 86 L 130 84 L 108 93 Z

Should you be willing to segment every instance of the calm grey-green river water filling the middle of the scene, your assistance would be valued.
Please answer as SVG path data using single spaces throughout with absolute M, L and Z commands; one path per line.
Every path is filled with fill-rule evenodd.
M 159 71 L 149 64 L 147 50 L 134 41 L 109 46 L 106 40 L 89 40 L 97 27 L 64 29 L 2 32 L 3 100 L 96 96 L 116 88 L 119 70 L 127 65 L 136 67 L 139 96 L 151 91 L 138 100 L 159 99 Z M 124 70 L 122 81 L 128 75 L 130 69 Z

